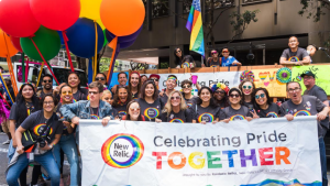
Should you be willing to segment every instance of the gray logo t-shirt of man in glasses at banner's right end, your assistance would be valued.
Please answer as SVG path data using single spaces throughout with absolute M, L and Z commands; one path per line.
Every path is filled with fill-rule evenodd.
M 323 110 L 326 105 L 315 96 L 304 95 L 302 101 L 299 105 L 295 105 L 292 100 L 288 100 L 280 106 L 282 117 L 286 114 L 293 114 L 294 117 L 316 116 Z M 318 121 L 318 134 L 323 136 L 329 129 L 329 118 L 327 117 L 321 122 Z

